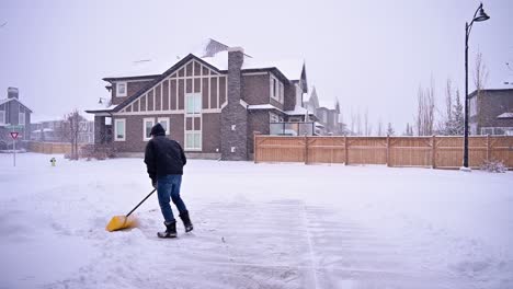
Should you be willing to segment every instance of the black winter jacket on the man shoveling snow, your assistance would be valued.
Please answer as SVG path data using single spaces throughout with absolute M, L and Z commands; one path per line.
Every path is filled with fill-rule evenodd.
M 159 176 L 182 175 L 186 162 L 187 159 L 180 143 L 168 139 L 164 135 L 155 136 L 146 144 L 145 163 L 153 184 Z

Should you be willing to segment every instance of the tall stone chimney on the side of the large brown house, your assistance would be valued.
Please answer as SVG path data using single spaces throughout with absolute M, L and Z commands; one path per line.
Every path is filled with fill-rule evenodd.
M 221 159 L 248 160 L 248 111 L 241 104 L 244 50 L 228 48 L 228 104 L 221 113 Z

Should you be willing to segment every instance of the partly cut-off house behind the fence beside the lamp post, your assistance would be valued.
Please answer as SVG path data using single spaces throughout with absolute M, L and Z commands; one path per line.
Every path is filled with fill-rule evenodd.
M 474 91 L 468 97 L 471 135 L 513 136 L 513 89 Z

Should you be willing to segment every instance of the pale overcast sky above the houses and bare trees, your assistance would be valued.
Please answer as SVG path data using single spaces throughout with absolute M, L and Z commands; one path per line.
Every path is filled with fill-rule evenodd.
M 58 118 L 94 107 L 109 95 L 101 79 L 133 61 L 185 56 L 212 37 L 262 60 L 303 58 L 310 89 L 316 86 L 322 103 L 338 97 L 346 123 L 351 113 L 368 109 L 374 128 L 380 118 L 402 132 L 413 122 L 419 85 L 429 85 L 431 77 L 441 108 L 447 78 L 464 92 L 465 22 L 478 5 L 474 0 L 1 0 L 0 99 L 16 86 L 33 119 Z M 513 1 L 483 5 L 491 19 L 472 28 L 470 72 L 479 50 L 489 70 L 487 86 L 503 88 L 513 81 L 505 66 L 513 62 Z

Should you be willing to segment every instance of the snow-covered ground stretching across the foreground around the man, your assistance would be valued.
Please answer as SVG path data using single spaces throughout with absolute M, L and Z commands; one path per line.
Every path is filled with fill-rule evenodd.
M 512 172 L 191 160 L 195 230 L 160 240 L 156 195 L 104 230 L 151 190 L 142 160 L 50 158 L 0 154 L 2 289 L 513 288 Z

